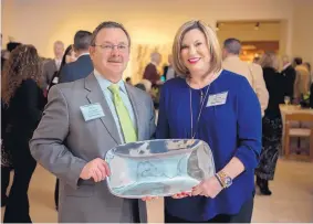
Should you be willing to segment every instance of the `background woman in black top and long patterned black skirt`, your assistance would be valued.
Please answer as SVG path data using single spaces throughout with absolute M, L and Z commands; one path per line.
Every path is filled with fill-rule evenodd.
M 257 185 L 263 195 L 271 195 L 269 181 L 274 179 L 277 161 L 281 150 L 282 118 L 279 105 L 284 103 L 285 78 L 278 72 L 279 60 L 272 52 L 265 52 L 260 65 L 270 94 L 269 106 L 262 121 L 262 152 L 255 170 Z

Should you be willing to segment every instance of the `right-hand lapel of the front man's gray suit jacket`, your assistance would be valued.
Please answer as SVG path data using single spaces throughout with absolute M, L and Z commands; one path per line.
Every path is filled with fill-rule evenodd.
M 125 84 L 127 94 L 129 96 L 134 113 L 135 113 L 135 118 L 136 118 L 136 124 L 137 124 L 137 135 L 138 135 L 138 141 L 143 141 L 145 137 L 145 127 L 142 124 L 140 114 L 143 111 L 143 108 L 140 108 L 140 100 L 135 96 L 134 87 L 129 86 L 128 84 Z

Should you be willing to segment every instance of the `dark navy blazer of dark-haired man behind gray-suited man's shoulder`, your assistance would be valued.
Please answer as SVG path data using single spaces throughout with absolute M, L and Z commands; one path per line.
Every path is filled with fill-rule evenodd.
M 65 64 L 59 77 L 59 83 L 70 83 L 87 77 L 93 72 L 93 63 L 90 55 L 82 55 L 77 61 Z

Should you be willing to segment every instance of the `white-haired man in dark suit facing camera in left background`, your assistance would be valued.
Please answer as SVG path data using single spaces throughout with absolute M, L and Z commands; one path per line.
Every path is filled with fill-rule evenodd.
M 62 41 L 55 41 L 53 44 L 53 52 L 54 52 L 54 58 L 45 61 L 43 65 L 43 75 L 42 75 L 43 89 L 48 88 L 55 73 L 60 71 L 62 57 L 64 54 L 64 43 Z

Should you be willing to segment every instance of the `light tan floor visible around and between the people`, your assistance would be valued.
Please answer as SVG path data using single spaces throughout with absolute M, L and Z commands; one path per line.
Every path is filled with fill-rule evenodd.
M 38 167 L 29 196 L 31 218 L 35 223 L 55 223 L 53 191 L 55 178 Z M 313 222 L 313 163 L 284 161 L 278 163 L 272 196 L 257 195 L 252 222 Z M 4 209 L 2 207 L 2 216 Z M 163 222 L 163 200 L 148 205 L 149 222 Z

